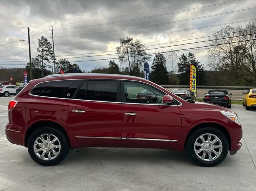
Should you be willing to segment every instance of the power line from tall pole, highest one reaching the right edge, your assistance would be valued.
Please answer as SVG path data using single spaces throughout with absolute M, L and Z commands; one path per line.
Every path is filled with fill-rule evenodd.
M 190 19 L 185 19 L 185 20 L 178 20 L 178 21 L 172 21 L 172 22 L 158 23 L 158 24 L 152 24 L 152 25 L 146 25 L 146 26 L 138 26 L 138 27 L 133 27 L 133 28 L 125 28 L 125 29 L 118 29 L 118 30 L 111 30 L 111 31 L 104 31 L 104 32 L 81 33 L 81 34 L 74 34 L 74 35 L 62 35 L 62 36 L 56 36 L 56 38 L 62 38 L 62 37 L 68 37 L 68 36 L 96 35 L 96 34 L 102 34 L 102 33 L 111 33 L 111 32 L 120 32 L 120 31 L 126 31 L 126 30 L 148 28 L 148 27 L 167 25 L 167 24 L 172 24 L 172 23 L 177 23 L 177 22 L 184 22 L 184 21 L 196 20 L 196 19 L 201 19 L 201 18 L 208 18 L 208 17 L 213 17 L 213 16 L 230 14 L 230 13 L 235 13 L 235 12 L 242 12 L 242 11 L 252 10 L 252 9 L 256 9 L 256 8 L 252 7 L 252 8 L 241 9 L 241 10 L 236 10 L 236 11 L 219 13 L 219 14 L 212 14 L 212 15 L 207 15 L 207 16 L 201 16 L 201 17 L 190 18 Z

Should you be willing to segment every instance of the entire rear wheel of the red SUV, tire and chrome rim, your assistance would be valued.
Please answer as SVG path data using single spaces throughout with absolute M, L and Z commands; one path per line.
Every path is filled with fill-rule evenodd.
M 40 165 L 56 165 L 66 158 L 69 151 L 67 138 L 51 127 L 40 128 L 28 140 L 28 153 Z

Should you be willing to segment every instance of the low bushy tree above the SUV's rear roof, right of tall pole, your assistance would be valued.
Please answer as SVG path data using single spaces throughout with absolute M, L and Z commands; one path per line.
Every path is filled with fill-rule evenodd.
M 56 62 L 56 73 L 60 73 L 60 70 L 64 71 L 64 73 L 82 73 L 81 69 L 76 63 L 71 64 L 67 59 L 59 59 Z

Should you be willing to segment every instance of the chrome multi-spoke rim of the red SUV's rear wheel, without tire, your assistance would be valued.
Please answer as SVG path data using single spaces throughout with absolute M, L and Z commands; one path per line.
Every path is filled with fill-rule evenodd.
M 60 154 L 60 141 L 53 134 L 42 134 L 34 142 L 34 152 L 38 158 L 52 160 Z

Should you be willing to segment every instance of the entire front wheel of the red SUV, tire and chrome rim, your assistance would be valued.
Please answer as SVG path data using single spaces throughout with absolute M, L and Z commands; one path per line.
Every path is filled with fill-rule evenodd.
M 200 166 L 215 166 L 226 158 L 228 154 L 228 140 L 216 128 L 200 128 L 188 138 L 186 152 Z

